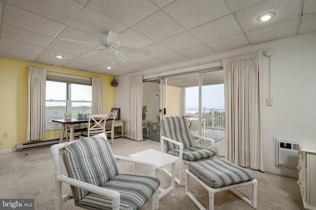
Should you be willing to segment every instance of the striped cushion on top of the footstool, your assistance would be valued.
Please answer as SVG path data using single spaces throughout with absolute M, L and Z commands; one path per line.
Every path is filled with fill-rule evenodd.
M 225 159 L 189 163 L 188 169 L 211 188 L 220 188 L 254 179 L 251 171 Z

